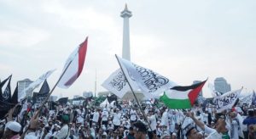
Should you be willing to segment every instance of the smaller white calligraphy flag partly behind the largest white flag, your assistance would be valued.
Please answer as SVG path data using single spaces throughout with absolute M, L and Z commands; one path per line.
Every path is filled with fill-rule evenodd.
M 133 81 L 131 81 L 130 84 L 133 90 L 137 90 L 137 86 L 134 85 Z M 127 80 L 125 80 L 125 75 L 121 69 L 115 70 L 113 74 L 103 82 L 102 86 L 120 98 L 124 97 L 126 92 L 131 92 L 131 88 Z

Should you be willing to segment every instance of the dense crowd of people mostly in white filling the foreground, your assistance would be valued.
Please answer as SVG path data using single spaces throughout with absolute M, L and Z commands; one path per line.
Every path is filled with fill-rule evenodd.
M 58 105 L 55 110 L 28 108 L 14 117 L 15 108 L 0 121 L 7 139 L 255 139 L 256 108 L 234 107 L 217 114 L 214 107 L 160 108 L 145 103 L 120 107 Z M 22 114 L 21 114 L 22 113 Z M 21 116 L 20 116 L 21 115 Z

